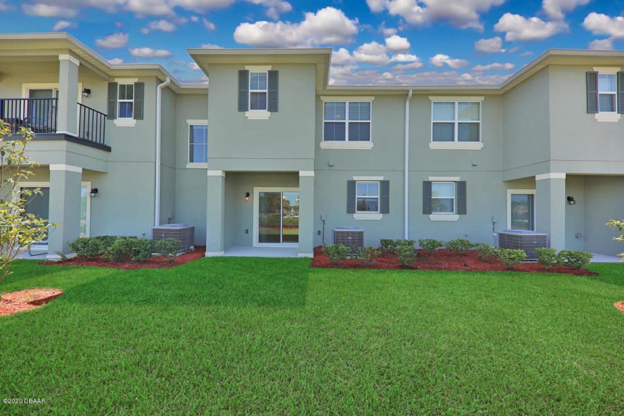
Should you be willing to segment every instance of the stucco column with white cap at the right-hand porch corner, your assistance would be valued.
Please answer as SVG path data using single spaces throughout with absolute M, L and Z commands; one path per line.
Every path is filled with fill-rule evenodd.
M 566 178 L 564 173 L 535 177 L 535 228 L 545 232 L 551 248 L 566 246 Z

